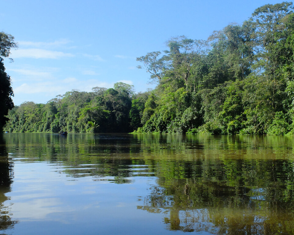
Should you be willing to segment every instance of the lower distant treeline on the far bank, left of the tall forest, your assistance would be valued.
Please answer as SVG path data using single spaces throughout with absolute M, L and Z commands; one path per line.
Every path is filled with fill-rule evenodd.
M 141 123 L 148 93 L 122 82 L 93 92 L 72 90 L 46 104 L 25 102 L 9 111 L 8 132 L 130 132 Z

